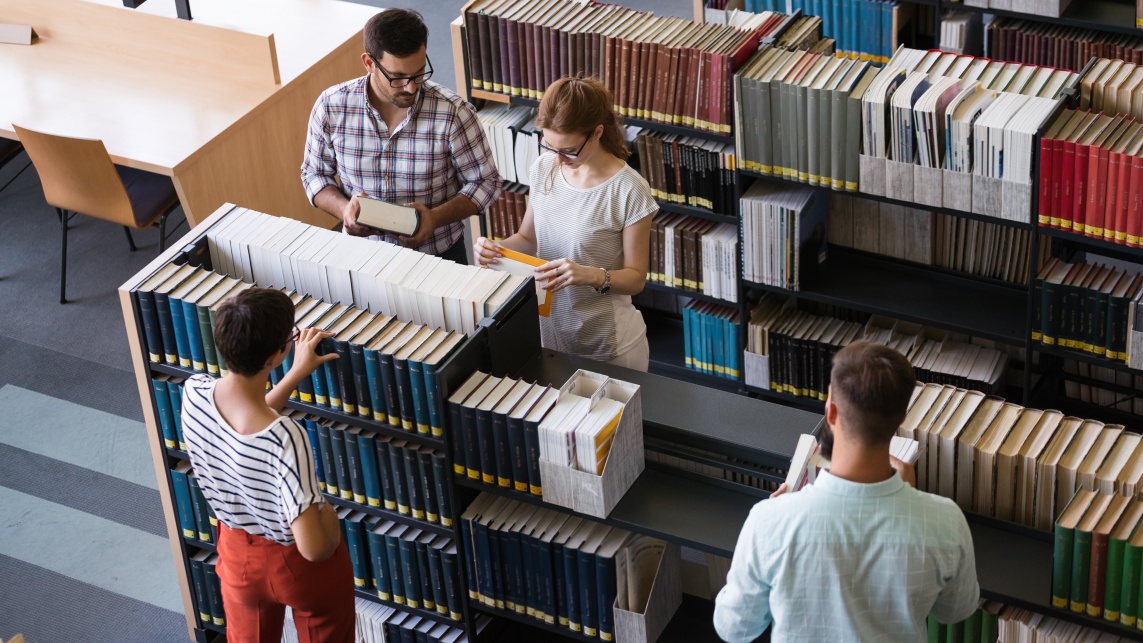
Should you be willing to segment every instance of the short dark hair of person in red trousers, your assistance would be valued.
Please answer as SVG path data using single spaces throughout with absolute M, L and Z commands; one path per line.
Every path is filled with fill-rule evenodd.
M 226 368 L 257 375 L 294 333 L 294 303 L 270 288 L 248 288 L 215 311 L 215 348 Z

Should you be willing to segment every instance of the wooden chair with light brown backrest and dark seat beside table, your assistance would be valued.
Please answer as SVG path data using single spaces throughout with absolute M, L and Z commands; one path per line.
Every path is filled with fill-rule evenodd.
M 67 302 L 67 222 L 75 214 L 123 226 L 131 251 L 135 251 L 131 228 L 143 230 L 158 220 L 159 252 L 167 249 L 167 216 L 178 206 L 178 194 L 170 177 L 115 166 L 102 140 L 13 127 L 40 175 L 45 199 L 59 217 L 63 231 L 61 304 Z

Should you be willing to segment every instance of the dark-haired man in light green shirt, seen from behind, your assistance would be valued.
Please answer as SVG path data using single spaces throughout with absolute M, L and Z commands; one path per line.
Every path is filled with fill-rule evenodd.
M 773 624 L 775 643 L 917 643 L 929 614 L 956 622 L 976 610 L 964 514 L 910 487 L 911 466 L 890 464 L 914 384 L 886 346 L 857 341 L 833 359 L 822 435 L 830 471 L 750 512 L 714 602 L 725 641 L 753 641 Z

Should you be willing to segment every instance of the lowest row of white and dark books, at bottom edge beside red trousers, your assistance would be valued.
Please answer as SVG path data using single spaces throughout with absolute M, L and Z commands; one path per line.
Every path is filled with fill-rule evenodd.
M 438 622 L 419 614 L 405 612 L 368 598 L 354 597 L 358 643 L 467 643 L 469 635 L 456 626 Z M 490 619 L 477 617 L 477 632 L 483 632 Z M 473 636 L 473 638 L 477 638 Z M 294 611 L 286 608 L 282 643 L 301 643 Z

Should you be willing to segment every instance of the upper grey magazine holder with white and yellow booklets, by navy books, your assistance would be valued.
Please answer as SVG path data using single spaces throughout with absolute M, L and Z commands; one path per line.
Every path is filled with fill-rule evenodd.
M 594 383 L 590 391 L 585 380 Z M 573 388 L 574 387 L 574 388 Z M 560 389 L 591 397 L 602 387 L 602 396 L 623 403 L 604 473 L 596 475 L 573 467 L 539 460 L 539 480 L 545 503 L 596 517 L 607 517 L 620 498 L 644 471 L 642 397 L 639 386 L 585 370 L 576 371 Z

